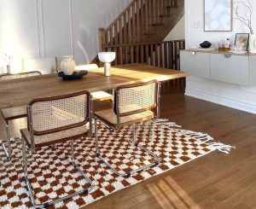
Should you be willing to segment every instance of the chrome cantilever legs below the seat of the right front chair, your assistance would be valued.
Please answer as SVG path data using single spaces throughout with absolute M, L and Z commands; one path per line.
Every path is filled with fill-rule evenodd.
M 126 173 L 119 173 L 118 171 L 116 171 L 111 165 L 108 164 L 108 161 L 107 160 L 104 160 L 99 152 L 99 148 L 98 148 L 98 137 L 97 137 L 97 121 L 98 119 L 96 118 L 95 119 L 95 137 L 96 137 L 96 156 L 102 160 L 106 165 L 108 165 L 108 167 L 116 174 L 118 175 L 119 177 L 131 177 L 132 174 L 138 172 L 138 171 L 143 171 L 145 169 L 148 169 L 149 167 L 152 167 L 152 166 L 156 166 L 156 165 L 160 165 L 160 162 L 161 162 L 161 158 L 154 154 L 153 152 L 149 151 L 148 149 L 146 148 L 143 148 L 142 146 L 140 146 L 138 143 L 137 143 L 137 136 L 136 136 L 136 125 L 133 124 L 132 125 L 132 135 L 133 135 L 133 143 L 134 145 L 137 147 L 137 148 L 140 148 L 142 149 L 144 152 L 150 154 L 151 156 L 153 156 L 155 159 L 157 159 L 156 161 L 154 161 L 154 163 L 151 163 L 149 165 L 145 165 L 143 167 L 140 167 L 138 168 L 137 170 L 134 170 L 134 171 L 130 171 L 130 172 L 126 172 Z

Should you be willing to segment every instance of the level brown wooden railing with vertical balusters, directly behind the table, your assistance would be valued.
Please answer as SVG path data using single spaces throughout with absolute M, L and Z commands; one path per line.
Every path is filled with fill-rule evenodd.
M 116 52 L 117 57 L 112 63 L 113 66 L 142 63 L 179 71 L 179 51 L 185 49 L 185 40 L 104 45 L 102 49 Z

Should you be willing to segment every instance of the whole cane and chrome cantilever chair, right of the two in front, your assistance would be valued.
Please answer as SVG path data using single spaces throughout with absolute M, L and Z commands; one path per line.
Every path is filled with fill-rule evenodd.
M 157 113 L 151 110 L 157 108 Z M 143 148 L 137 143 L 136 124 L 144 120 L 158 119 L 160 117 L 160 83 L 157 80 L 143 84 L 131 84 L 119 86 L 114 90 L 113 109 L 108 109 L 95 113 L 95 136 L 96 136 L 96 156 L 101 159 L 119 177 L 130 177 L 133 173 L 142 171 L 154 165 L 160 165 L 160 157 Z M 120 173 L 108 164 L 100 154 L 98 148 L 97 122 L 108 127 L 111 131 L 118 131 L 121 126 L 132 125 L 133 144 L 152 155 L 156 161 L 150 165 L 139 167 L 137 170 Z M 150 123 L 150 133 L 151 131 Z

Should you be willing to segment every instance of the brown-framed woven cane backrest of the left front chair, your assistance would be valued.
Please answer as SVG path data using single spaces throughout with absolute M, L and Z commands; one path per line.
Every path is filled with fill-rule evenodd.
M 44 135 L 85 125 L 90 115 L 90 92 L 35 99 L 27 105 L 29 131 Z

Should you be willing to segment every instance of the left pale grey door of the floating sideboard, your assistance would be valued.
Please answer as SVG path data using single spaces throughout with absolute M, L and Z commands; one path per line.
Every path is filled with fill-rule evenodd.
M 201 78 L 210 78 L 210 55 L 190 51 L 180 51 L 180 70 Z

